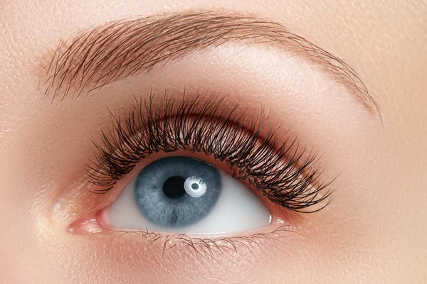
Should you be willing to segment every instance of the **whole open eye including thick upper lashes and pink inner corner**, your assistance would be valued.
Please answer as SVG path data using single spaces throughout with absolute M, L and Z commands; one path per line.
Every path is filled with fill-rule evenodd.
M 95 217 L 78 219 L 71 229 L 84 224 L 82 228 L 93 231 L 112 226 L 158 233 L 240 233 L 280 226 L 287 210 L 316 212 L 328 204 L 332 190 L 320 178 L 317 154 L 305 153 L 297 138 L 282 137 L 274 126 L 263 129 L 263 112 L 254 119 L 216 97 L 152 99 L 135 102 L 124 118 L 112 116 L 102 144 L 95 143 L 87 172 L 90 190 L 112 194 L 88 213 Z M 146 166 L 136 173 L 142 163 Z

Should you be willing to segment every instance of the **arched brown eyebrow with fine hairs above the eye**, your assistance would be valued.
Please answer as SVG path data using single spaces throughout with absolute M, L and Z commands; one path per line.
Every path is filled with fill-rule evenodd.
M 60 41 L 43 68 L 47 78 L 43 87 L 53 99 L 78 97 L 196 50 L 229 42 L 274 45 L 300 55 L 344 84 L 365 107 L 378 109 L 364 82 L 347 63 L 280 23 L 236 13 L 150 16 L 88 29 L 72 40 Z

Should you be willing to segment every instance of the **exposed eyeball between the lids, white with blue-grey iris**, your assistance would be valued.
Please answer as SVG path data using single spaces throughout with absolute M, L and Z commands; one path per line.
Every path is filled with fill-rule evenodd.
M 228 234 L 270 224 L 271 214 L 243 183 L 214 165 L 167 157 L 143 168 L 110 208 L 116 228 Z

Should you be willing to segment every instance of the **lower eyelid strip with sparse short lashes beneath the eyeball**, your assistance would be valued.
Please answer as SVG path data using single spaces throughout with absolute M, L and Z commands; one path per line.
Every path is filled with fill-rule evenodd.
M 75 232 L 75 231 L 73 231 Z M 307 236 L 298 231 L 292 224 L 275 223 L 268 229 L 261 228 L 241 234 L 224 236 L 202 236 L 194 234 L 164 234 L 147 229 L 125 230 L 112 227 L 99 227 L 91 232 L 91 241 L 101 240 L 109 243 L 110 249 L 125 247 L 137 250 L 152 250 L 157 256 L 173 256 L 191 253 L 191 257 L 235 258 L 246 255 L 246 261 L 256 260 L 269 250 L 275 250 L 284 242 L 295 245 L 295 239 L 306 239 Z M 96 239 L 93 239 L 96 238 Z M 99 239 L 101 238 L 101 239 Z

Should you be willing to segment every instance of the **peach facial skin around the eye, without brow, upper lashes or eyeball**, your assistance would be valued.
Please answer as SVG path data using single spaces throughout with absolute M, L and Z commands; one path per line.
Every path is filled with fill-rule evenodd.
M 78 98 L 70 95 L 76 85 L 54 98 L 48 86 L 56 85 L 43 84 L 58 45 L 84 31 L 206 11 L 279 23 L 351 66 L 374 101 L 310 54 L 247 38 L 192 50 Z M 6 0 L 0 14 L 0 283 L 426 282 L 422 1 Z M 222 253 L 214 247 L 221 241 L 194 236 L 185 237 L 193 238 L 189 246 L 159 232 L 106 234 L 90 222 L 71 232 L 165 156 L 137 163 L 105 195 L 84 186 L 92 141 L 101 143 L 111 126 L 109 110 L 124 117 L 135 98 L 165 89 L 176 99 L 184 89 L 189 97 L 224 94 L 224 111 L 238 103 L 251 119 L 268 110 L 267 129 L 320 153 L 322 180 L 333 180 L 330 204 L 293 214 L 257 192 L 275 223 L 243 234 L 248 243 L 231 236 L 236 251 Z M 179 155 L 224 168 L 203 153 Z

